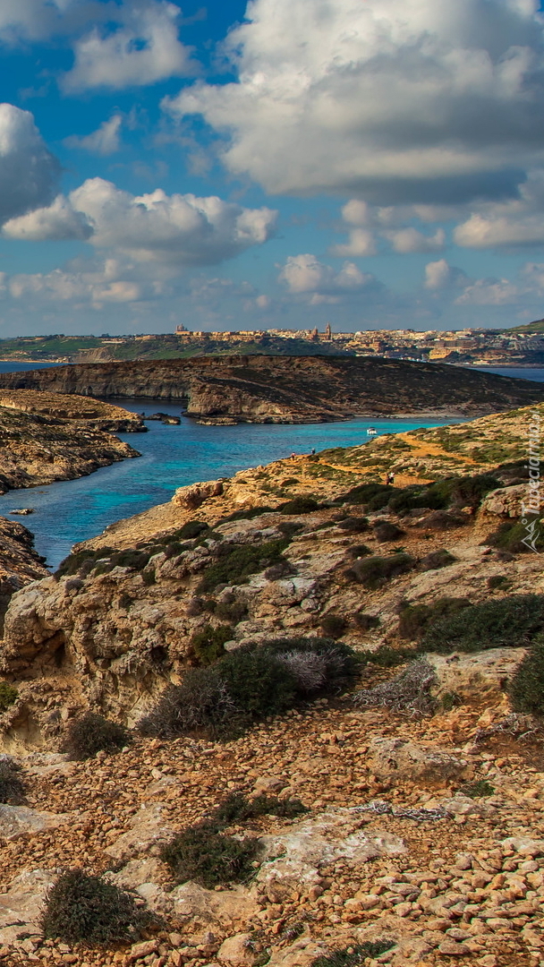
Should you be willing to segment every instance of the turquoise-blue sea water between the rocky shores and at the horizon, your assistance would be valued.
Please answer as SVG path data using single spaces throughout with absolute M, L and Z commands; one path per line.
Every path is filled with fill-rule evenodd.
M 49 364 L 51 365 L 51 364 Z M 42 368 L 39 364 L 0 363 L 0 372 Z M 544 382 L 544 368 L 485 368 L 506 376 Z M 121 406 L 150 415 L 160 411 L 181 416 L 179 403 L 163 399 L 124 399 Z M 100 534 L 104 527 L 170 500 L 177 487 L 196 481 L 232 477 L 248 467 L 270 463 L 292 453 L 308 454 L 329 447 L 353 447 L 368 442 L 370 426 L 378 434 L 401 433 L 417 427 L 459 423 L 458 420 L 351 420 L 306 425 L 203 426 L 183 418 L 180 425 L 147 424 L 147 433 L 119 436 L 141 456 L 103 467 L 75 481 L 11 490 L 0 496 L 0 515 L 32 507 L 32 516 L 10 519 L 24 523 L 35 546 L 54 569 L 72 545 Z

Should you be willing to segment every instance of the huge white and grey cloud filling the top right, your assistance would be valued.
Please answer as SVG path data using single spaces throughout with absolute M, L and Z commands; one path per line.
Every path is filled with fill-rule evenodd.
M 496 198 L 544 158 L 536 0 L 253 0 L 246 17 L 226 42 L 238 79 L 163 104 L 271 192 Z

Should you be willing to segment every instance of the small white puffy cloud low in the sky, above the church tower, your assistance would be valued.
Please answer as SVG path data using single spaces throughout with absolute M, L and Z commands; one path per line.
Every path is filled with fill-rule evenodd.
M 289 255 L 278 279 L 293 295 L 312 294 L 313 305 L 330 301 L 330 297 L 335 300 L 338 295 L 358 292 L 375 281 L 374 276 L 360 272 L 353 262 L 344 262 L 340 272 L 335 272 L 309 253 Z

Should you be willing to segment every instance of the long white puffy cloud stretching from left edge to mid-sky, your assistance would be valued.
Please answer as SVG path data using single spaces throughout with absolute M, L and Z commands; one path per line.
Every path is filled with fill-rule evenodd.
M 68 199 L 57 198 L 46 209 L 9 221 L 4 234 L 34 240 L 73 238 L 73 225 L 79 224 L 97 248 L 118 249 L 140 262 L 213 265 L 266 242 L 275 218 L 270 208 L 243 208 L 215 195 L 167 195 L 157 189 L 135 196 L 91 178 Z

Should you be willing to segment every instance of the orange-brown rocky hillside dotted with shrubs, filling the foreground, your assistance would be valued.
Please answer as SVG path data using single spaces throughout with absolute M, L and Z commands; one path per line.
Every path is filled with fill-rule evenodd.
M 533 412 L 183 487 L 14 595 L 7 965 L 539 967 L 544 733 L 509 685 L 544 630 L 541 554 L 515 530 Z M 129 733 L 97 752 L 95 724 L 71 758 L 87 710 Z M 67 867 L 157 921 L 45 939 Z

